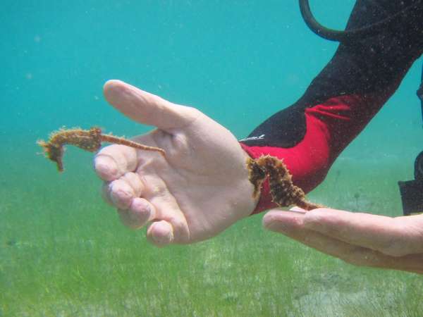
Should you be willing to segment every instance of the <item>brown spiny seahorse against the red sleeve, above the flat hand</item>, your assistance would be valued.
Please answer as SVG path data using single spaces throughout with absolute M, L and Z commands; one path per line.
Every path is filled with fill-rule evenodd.
M 300 187 L 293 185 L 288 168 L 280 159 L 266 155 L 258 159 L 247 159 L 250 182 L 255 187 L 254 196 L 259 195 L 262 183 L 269 179 L 272 200 L 280 207 L 299 206 L 305 210 L 321 207 L 305 199 L 305 193 Z

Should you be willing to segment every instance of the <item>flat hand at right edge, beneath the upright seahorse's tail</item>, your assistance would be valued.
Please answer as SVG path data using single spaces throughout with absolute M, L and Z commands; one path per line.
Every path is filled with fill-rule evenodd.
M 348 263 L 423 273 L 423 215 L 294 208 L 269 211 L 263 225 Z

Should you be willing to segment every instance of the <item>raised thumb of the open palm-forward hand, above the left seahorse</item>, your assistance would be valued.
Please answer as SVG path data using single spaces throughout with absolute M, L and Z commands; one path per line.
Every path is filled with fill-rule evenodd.
M 200 114 L 194 108 L 172 104 L 120 80 L 106 82 L 104 96 L 125 116 L 145 125 L 154 125 L 165 131 L 182 128 Z

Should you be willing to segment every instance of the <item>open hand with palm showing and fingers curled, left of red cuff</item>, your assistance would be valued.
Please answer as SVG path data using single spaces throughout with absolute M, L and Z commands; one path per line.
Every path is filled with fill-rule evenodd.
M 147 238 L 161 247 L 208 239 L 252 213 L 247 154 L 226 128 L 119 80 L 106 82 L 104 96 L 125 116 L 157 127 L 135 142 L 166 151 L 111 145 L 95 157 L 104 198 L 125 225 L 151 223 Z

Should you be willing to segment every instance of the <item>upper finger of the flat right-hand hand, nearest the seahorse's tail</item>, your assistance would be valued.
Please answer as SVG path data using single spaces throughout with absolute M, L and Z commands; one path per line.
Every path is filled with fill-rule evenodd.
M 333 209 L 314 209 L 304 218 L 305 228 L 336 240 L 381 251 L 391 256 L 423 253 L 421 232 L 400 218 Z

